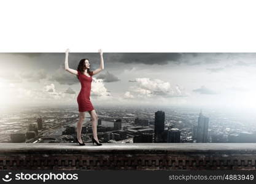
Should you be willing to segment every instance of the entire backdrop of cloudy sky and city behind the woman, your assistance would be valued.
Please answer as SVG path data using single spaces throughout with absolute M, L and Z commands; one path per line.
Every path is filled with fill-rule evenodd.
M 91 101 L 102 143 L 256 142 L 255 53 L 104 53 Z M 65 53 L 1 53 L 0 142 L 76 139 L 81 84 Z M 71 69 L 98 53 L 70 53 Z M 15 72 L 13 67 L 18 67 Z M 83 142 L 90 142 L 90 115 Z

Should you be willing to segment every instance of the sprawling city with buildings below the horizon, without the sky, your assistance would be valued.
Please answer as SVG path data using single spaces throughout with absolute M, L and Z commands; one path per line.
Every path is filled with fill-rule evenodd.
M 1 113 L 0 142 L 74 142 L 79 118 L 76 106 L 23 107 L 17 111 Z M 256 142 L 255 118 L 242 113 L 125 105 L 96 107 L 96 112 L 98 138 L 103 143 Z M 88 114 L 82 139 L 90 142 L 91 136 Z

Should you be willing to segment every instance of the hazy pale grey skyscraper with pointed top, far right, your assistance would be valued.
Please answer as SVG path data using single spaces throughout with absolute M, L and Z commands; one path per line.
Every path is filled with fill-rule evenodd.
M 204 117 L 201 111 L 198 117 L 196 142 L 208 142 L 208 126 L 209 126 L 209 118 Z

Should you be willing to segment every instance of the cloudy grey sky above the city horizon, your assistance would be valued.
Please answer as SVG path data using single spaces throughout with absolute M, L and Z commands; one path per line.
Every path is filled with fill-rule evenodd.
M 64 53 L 0 53 L 4 105 L 77 104 L 80 83 Z M 69 67 L 98 53 L 69 53 Z M 256 53 L 104 53 L 93 104 L 206 105 L 256 109 Z

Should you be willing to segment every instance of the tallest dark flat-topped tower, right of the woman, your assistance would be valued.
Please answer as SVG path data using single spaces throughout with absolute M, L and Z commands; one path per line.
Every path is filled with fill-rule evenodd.
M 154 142 L 163 142 L 161 134 L 165 131 L 165 112 L 158 110 L 155 112 L 155 134 Z

